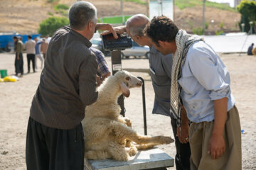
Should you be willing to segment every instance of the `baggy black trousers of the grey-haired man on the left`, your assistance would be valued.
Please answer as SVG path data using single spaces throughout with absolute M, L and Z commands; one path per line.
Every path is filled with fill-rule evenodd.
M 26 137 L 28 170 L 83 170 L 84 154 L 81 123 L 73 129 L 60 130 L 29 118 Z

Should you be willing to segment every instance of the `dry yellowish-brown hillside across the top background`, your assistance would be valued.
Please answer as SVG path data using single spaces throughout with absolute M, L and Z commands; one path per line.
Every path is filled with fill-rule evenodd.
M 121 15 L 120 2 L 116 0 L 87 0 L 97 8 L 98 18 L 103 16 Z M 146 0 L 145 0 L 146 1 Z M 74 0 L 59 0 L 58 3 L 70 6 Z M 53 10 L 56 3 L 50 4 L 48 0 L 0 0 L 0 33 L 13 32 L 37 33 L 39 23 L 50 17 L 48 13 L 54 16 L 60 16 Z M 202 6 L 185 8 L 183 10 L 175 8 L 176 24 L 187 31 L 193 28 L 201 28 Z M 136 13 L 147 14 L 146 5 L 136 4 L 124 1 L 124 15 L 133 15 Z M 223 11 L 218 8 L 206 7 L 206 22 L 209 23 L 208 30 L 220 29 L 220 23 L 224 23 L 225 30 L 239 30 L 236 23 L 240 21 L 240 13 Z M 214 20 L 214 23 L 210 21 Z

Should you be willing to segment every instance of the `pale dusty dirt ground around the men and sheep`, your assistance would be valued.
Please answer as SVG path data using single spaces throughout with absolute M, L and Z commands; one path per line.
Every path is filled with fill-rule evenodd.
M 242 169 L 256 169 L 256 57 L 220 55 L 231 75 L 231 89 L 240 111 L 242 134 Z M 110 64 L 110 57 L 106 57 Z M 39 61 L 38 61 L 39 62 Z M 27 72 L 26 54 L 24 54 L 24 72 Z M 39 64 L 39 63 L 38 63 Z M 123 68 L 149 68 L 146 59 L 122 60 Z M 14 74 L 14 55 L 0 54 L 0 69 L 8 69 Z M 171 135 L 170 118 L 164 115 L 152 115 L 154 91 L 151 79 L 146 73 L 133 73 L 143 77 L 146 88 L 146 116 L 149 135 Z M 41 72 L 26 74 L 15 83 L 0 83 L 0 169 L 26 169 L 25 144 L 26 126 L 33 95 L 38 87 Z M 133 127 L 143 134 L 142 90 L 132 89 L 131 96 L 125 98 L 126 115 L 132 120 Z M 159 148 L 175 155 L 175 145 L 161 145 Z M 174 168 L 169 168 L 174 169 Z

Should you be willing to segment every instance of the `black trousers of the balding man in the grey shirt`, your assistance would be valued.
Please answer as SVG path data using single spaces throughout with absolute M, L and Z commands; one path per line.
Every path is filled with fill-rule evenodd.
M 177 170 L 187 170 L 190 169 L 190 157 L 191 157 L 191 149 L 189 146 L 189 142 L 186 144 L 182 144 L 177 134 L 177 124 L 176 119 L 171 118 L 171 127 L 174 132 L 175 137 L 175 146 L 176 146 L 176 156 L 175 156 L 175 165 Z

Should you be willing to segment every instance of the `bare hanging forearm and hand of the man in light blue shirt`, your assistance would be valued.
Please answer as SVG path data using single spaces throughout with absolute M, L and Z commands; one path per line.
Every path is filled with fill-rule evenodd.
M 227 119 L 228 98 L 220 98 L 214 101 L 214 125 L 213 133 L 208 145 L 208 154 L 212 159 L 220 158 L 225 152 L 223 131 Z

